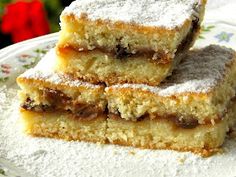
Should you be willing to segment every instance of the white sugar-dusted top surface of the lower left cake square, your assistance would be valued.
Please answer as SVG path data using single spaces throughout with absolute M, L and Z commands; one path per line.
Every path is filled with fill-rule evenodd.
M 52 84 L 62 84 L 70 87 L 87 87 L 87 88 L 102 88 L 101 85 L 90 84 L 88 82 L 82 82 L 72 77 L 56 73 L 54 71 L 55 66 L 55 49 L 49 51 L 42 60 L 38 63 L 35 68 L 27 70 L 25 73 L 21 74 L 18 79 L 34 79 L 41 80 L 45 82 L 50 82 Z

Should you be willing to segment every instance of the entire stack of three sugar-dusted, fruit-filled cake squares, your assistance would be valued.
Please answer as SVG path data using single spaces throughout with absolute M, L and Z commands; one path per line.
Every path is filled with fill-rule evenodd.
M 189 51 L 204 0 L 74 1 L 55 49 L 17 78 L 34 136 L 209 155 L 234 125 L 236 54 Z

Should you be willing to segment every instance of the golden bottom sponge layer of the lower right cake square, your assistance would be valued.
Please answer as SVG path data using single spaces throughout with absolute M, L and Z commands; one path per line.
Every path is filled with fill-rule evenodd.
M 106 138 L 112 144 L 147 149 L 191 151 L 209 156 L 219 150 L 228 128 L 226 119 L 215 125 L 199 125 L 193 129 L 176 127 L 164 119 L 126 121 L 110 115 Z

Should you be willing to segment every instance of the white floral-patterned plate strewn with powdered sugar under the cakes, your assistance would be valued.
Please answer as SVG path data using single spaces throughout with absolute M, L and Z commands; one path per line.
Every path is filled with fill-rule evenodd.
M 58 34 L 0 51 L 0 176 L 236 176 L 236 142 L 227 139 L 224 153 L 202 158 L 192 153 L 65 142 L 24 135 L 18 126 L 15 78 L 52 48 Z M 204 25 L 195 47 L 220 44 L 236 49 L 236 28 Z M 3 175 L 2 175 L 3 176 Z

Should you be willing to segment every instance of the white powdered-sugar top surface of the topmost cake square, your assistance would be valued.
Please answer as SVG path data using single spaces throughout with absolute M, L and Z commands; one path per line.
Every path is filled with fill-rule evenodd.
M 174 29 L 198 17 L 206 0 L 76 0 L 62 12 L 91 20 L 121 21 Z

